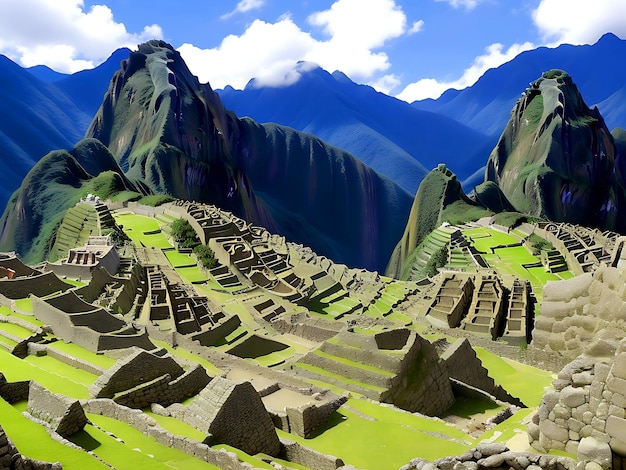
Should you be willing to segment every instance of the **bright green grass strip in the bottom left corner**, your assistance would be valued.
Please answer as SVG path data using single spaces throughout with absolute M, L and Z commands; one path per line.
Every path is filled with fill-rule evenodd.
M 24 405 L 24 403 L 19 405 Z M 2 427 L 23 455 L 47 462 L 61 462 L 65 470 L 87 468 L 90 470 L 109 470 L 109 467 L 86 452 L 53 440 L 46 428 L 22 415 L 22 408 L 23 406 L 13 407 L 0 399 Z

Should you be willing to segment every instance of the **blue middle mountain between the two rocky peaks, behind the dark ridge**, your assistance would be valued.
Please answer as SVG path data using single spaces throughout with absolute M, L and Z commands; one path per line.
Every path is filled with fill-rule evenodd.
M 441 162 L 453 165 L 461 179 L 470 176 L 495 144 L 493 137 L 357 85 L 341 72 L 299 63 L 298 73 L 300 79 L 290 86 L 259 86 L 252 80 L 244 90 L 227 87 L 218 93 L 238 115 L 315 134 L 411 194 Z

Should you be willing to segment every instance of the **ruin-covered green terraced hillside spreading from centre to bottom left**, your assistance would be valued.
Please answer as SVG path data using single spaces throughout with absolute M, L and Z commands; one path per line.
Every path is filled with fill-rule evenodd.
M 92 210 L 85 204 L 95 201 L 77 209 Z M 72 279 L 85 265 L 71 253 L 100 246 L 94 236 L 59 260 L 64 279 L 47 270 L 53 264 L 40 273 L 0 258 L 15 271 L 0 279 L 0 406 L 10 416 L 2 426 L 23 458 L 64 468 L 391 469 L 487 438 L 527 447 L 513 439 L 526 427 L 516 410 L 538 406 L 541 393 L 502 373 L 527 366 L 504 367 L 483 349 L 491 365 L 474 356 L 463 376 L 453 373 L 455 330 L 426 315 L 437 276 L 397 281 L 350 269 L 209 205 L 108 203 L 107 211 L 125 234 L 106 238 L 116 272 L 94 256 L 90 275 Z M 203 268 L 173 240 L 179 219 L 212 248 L 217 267 Z M 463 230 L 480 239 L 478 228 Z M 37 276 L 49 280 L 29 281 Z M 547 386 L 550 374 L 533 371 L 537 387 Z M 481 387 L 477 398 L 471 390 Z M 66 428 L 41 412 L 49 400 L 60 416 L 70 407 L 81 416 L 80 408 L 87 421 L 58 438 Z M 485 434 L 500 412 L 512 417 L 497 429 L 510 431 Z

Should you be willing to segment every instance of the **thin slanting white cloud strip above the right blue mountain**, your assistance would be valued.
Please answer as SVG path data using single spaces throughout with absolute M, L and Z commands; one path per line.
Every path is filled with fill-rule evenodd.
M 453 81 L 438 81 L 434 78 L 423 78 L 407 85 L 396 97 L 409 103 L 426 98 L 438 98 L 450 88 L 461 90 L 473 85 L 489 69 L 498 67 L 513 59 L 519 53 L 533 49 L 529 42 L 513 44 L 503 51 L 502 44 L 494 43 L 488 46 L 485 54 L 474 59 L 472 65 L 465 69 L 463 75 Z

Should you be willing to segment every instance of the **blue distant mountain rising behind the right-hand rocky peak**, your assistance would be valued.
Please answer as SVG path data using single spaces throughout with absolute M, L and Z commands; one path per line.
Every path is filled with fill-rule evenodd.
M 609 129 L 626 128 L 626 40 L 605 34 L 593 45 L 563 44 L 522 52 L 490 69 L 471 87 L 448 90 L 437 100 L 416 101 L 413 107 L 455 119 L 478 132 L 499 135 L 509 110 L 543 72 L 561 69 L 573 77 L 588 103 L 597 104 Z

